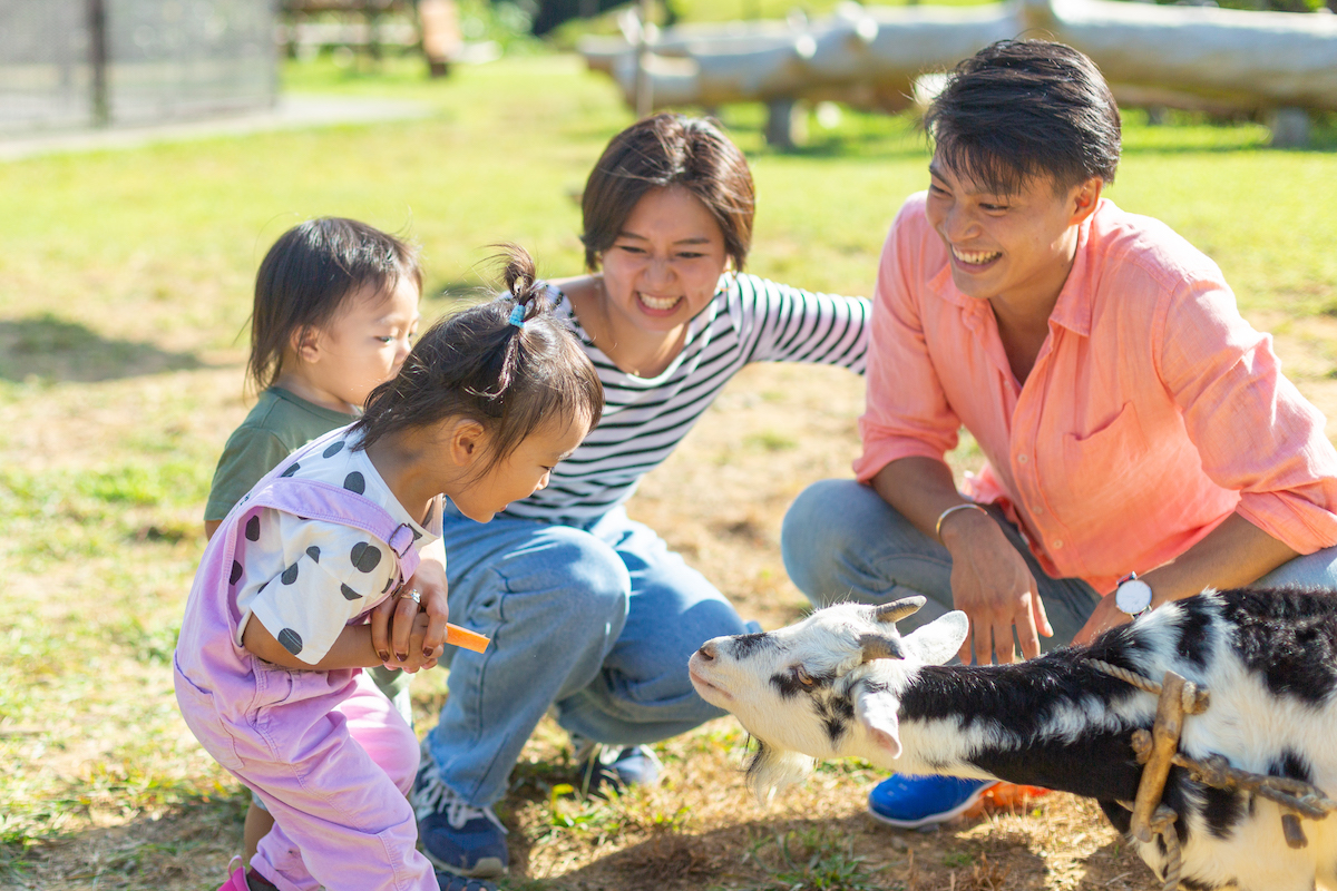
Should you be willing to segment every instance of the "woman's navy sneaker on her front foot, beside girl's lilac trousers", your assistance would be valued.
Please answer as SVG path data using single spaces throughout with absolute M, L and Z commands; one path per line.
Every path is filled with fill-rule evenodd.
M 425 745 L 410 801 L 417 816 L 418 842 L 432 866 L 467 878 L 492 879 L 505 874 L 511 856 L 501 820 L 492 808 L 473 807 L 456 795 L 441 780 L 441 768 Z

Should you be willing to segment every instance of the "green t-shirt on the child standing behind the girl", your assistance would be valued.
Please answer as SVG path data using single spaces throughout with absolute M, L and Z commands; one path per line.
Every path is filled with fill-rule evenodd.
M 282 387 L 259 394 L 242 426 L 233 430 L 209 488 L 205 521 L 222 520 L 279 461 L 334 427 L 353 423 L 352 414 L 325 409 Z

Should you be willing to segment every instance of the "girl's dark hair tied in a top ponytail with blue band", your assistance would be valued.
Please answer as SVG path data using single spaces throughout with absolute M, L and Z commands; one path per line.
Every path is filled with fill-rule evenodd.
M 575 334 L 554 318 L 545 282 L 520 247 L 503 244 L 509 294 L 436 322 L 400 373 L 372 390 L 353 425 L 358 448 L 412 427 L 463 415 L 492 437 L 487 472 L 545 422 L 603 414 L 603 385 Z M 516 309 L 524 315 L 513 325 Z

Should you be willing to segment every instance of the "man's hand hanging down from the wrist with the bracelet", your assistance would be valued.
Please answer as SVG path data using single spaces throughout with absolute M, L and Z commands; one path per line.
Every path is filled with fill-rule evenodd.
M 952 554 L 952 604 L 971 620 L 975 661 L 1013 660 L 1012 629 L 1021 655 L 1040 655 L 1040 635 L 1054 636 L 1044 604 L 1025 560 L 997 522 L 979 510 L 959 510 L 943 524 L 943 544 Z M 971 661 L 971 637 L 957 653 Z

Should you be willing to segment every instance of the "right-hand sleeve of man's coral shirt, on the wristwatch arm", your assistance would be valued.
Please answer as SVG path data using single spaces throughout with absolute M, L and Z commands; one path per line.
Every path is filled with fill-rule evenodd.
M 1229 289 L 1198 279 L 1165 307 L 1159 373 L 1213 482 L 1238 513 L 1301 554 L 1337 545 L 1337 450 L 1324 415 L 1281 374 L 1271 338 Z

